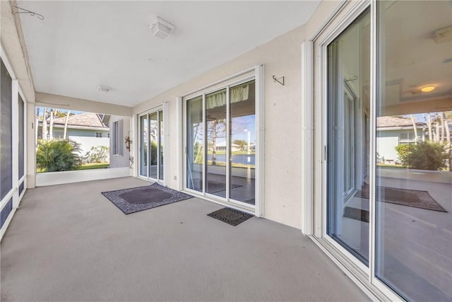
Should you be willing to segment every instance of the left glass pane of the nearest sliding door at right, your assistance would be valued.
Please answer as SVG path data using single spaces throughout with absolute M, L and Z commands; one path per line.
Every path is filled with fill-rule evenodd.
M 369 52 L 366 11 L 328 45 L 327 233 L 369 260 Z

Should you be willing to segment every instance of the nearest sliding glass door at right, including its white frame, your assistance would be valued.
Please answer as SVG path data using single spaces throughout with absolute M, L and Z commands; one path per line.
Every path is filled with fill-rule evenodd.
M 381 300 L 452 301 L 451 16 L 350 1 L 313 43 L 314 233 Z

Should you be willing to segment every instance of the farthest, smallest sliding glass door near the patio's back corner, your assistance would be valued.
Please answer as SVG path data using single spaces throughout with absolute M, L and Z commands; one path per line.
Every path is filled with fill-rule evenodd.
M 145 113 L 140 118 L 140 175 L 163 181 L 163 111 Z

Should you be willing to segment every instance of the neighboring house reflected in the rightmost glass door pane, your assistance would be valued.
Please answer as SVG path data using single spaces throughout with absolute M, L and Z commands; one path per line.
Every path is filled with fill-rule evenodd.
M 425 140 L 423 122 L 416 123 L 417 141 Z M 377 117 L 376 118 L 376 151 L 379 161 L 394 163 L 398 159 L 396 146 L 400 144 L 413 144 L 416 141 L 412 121 L 401 117 Z

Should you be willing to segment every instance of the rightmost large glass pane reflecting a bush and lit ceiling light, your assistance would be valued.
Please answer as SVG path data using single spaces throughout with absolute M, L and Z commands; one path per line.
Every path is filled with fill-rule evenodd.
M 452 4 L 377 3 L 375 274 L 409 301 L 452 301 Z

